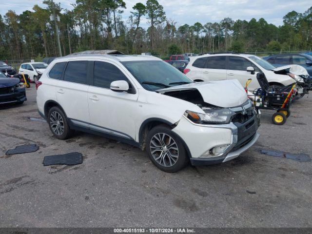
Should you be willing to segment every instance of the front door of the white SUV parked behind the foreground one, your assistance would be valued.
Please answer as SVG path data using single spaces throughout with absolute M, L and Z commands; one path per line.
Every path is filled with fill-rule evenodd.
M 247 67 L 254 67 L 254 74 L 247 72 Z M 245 87 L 246 81 L 251 78 L 252 82 L 249 84 L 248 89 L 254 90 L 260 87 L 256 78 L 258 72 L 260 72 L 260 69 L 248 59 L 238 56 L 228 57 L 227 79 L 238 79 L 241 85 Z

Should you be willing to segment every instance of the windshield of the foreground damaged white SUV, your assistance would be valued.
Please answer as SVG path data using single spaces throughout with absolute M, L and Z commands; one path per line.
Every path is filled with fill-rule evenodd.
M 121 63 L 145 89 L 150 91 L 193 82 L 164 61 L 127 61 Z

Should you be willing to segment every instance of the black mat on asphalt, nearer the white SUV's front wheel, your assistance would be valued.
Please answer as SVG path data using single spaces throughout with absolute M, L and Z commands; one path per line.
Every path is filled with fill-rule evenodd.
M 43 159 L 43 166 L 50 166 L 50 165 L 76 165 L 81 164 L 83 161 L 81 153 L 68 153 L 64 155 L 51 155 L 45 156 Z

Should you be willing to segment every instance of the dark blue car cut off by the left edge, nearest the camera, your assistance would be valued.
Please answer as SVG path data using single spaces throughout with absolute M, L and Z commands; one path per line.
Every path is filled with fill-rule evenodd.
M 26 100 L 26 91 L 20 79 L 8 78 L 0 72 L 0 104 L 22 104 Z

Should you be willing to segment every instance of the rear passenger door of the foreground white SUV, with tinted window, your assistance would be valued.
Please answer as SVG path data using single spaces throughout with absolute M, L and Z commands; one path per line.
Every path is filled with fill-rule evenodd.
M 89 61 L 70 60 L 65 68 L 63 80 L 56 88 L 57 100 L 65 114 L 74 123 L 90 122 L 88 110 L 87 74 Z

